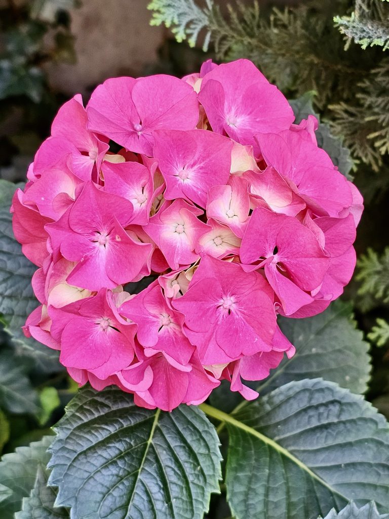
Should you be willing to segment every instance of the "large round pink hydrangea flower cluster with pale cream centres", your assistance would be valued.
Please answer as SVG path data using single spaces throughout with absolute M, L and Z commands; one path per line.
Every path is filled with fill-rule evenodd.
M 317 120 L 293 121 L 247 60 L 75 95 L 13 199 L 39 267 L 25 333 L 80 385 L 144 407 L 198 404 L 221 379 L 255 398 L 242 378 L 294 353 L 277 314 L 313 316 L 350 280 L 363 209 Z

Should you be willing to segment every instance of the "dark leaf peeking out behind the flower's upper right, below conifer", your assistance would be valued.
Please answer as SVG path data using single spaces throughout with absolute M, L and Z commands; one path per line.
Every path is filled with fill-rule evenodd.
M 319 119 L 312 104 L 315 93 L 313 91 L 307 92 L 298 99 L 289 100 L 296 117 L 296 124 L 299 124 L 302 119 L 307 119 L 309 115 L 314 115 Z M 319 148 L 323 148 L 339 171 L 349 180 L 352 180 L 350 171 L 353 167 L 353 161 L 349 149 L 342 145 L 342 141 L 338 137 L 331 134 L 329 126 L 323 122 L 319 122 L 319 127 L 315 133 Z

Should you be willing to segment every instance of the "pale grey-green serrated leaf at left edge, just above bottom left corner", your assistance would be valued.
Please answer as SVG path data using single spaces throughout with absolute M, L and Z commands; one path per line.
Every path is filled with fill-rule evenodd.
M 0 517 L 13 519 L 21 509 L 22 498 L 30 495 L 35 484 L 38 466 L 45 467 L 50 459 L 46 452 L 53 436 L 44 436 L 28 447 L 18 447 L 15 452 L 5 454 L 0 461 L 0 484 L 12 490 L 12 494 L 0 502 Z

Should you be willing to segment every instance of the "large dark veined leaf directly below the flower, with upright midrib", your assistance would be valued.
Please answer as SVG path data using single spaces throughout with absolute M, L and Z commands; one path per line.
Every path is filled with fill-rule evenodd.
M 218 438 L 195 406 L 165 413 L 84 388 L 55 431 L 49 483 L 72 519 L 200 519 L 219 491 Z

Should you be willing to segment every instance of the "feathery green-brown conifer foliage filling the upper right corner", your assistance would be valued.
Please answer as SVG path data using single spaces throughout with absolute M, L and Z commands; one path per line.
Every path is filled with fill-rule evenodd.
M 190 45 L 204 50 L 211 42 L 219 60 L 252 60 L 288 97 L 315 90 L 322 120 L 332 121 L 332 130 L 354 159 L 366 165 L 359 173 L 371 176 L 371 170 L 380 169 L 389 177 L 388 58 L 377 47 L 363 50 L 381 40 L 386 48 L 389 4 L 312 0 L 262 11 L 256 0 L 248 6 L 235 1 L 227 16 L 213 0 L 153 0 L 148 8 L 153 11 L 151 23 L 171 27 L 178 41 L 187 37 Z M 347 19 L 338 16 L 334 24 L 334 17 L 352 10 L 353 23 L 375 32 L 371 39 L 365 35 L 363 48 L 350 40 L 345 50 L 340 30 L 346 30 Z M 378 187 L 371 181 L 369 185 L 372 191 Z

